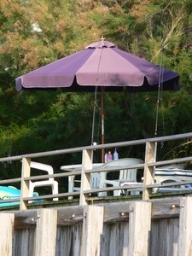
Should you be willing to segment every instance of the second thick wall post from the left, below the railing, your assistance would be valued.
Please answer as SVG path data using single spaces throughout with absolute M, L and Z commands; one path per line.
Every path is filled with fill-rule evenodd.
M 55 256 L 57 211 L 38 210 L 34 256 Z

